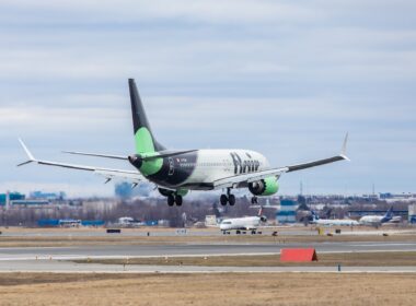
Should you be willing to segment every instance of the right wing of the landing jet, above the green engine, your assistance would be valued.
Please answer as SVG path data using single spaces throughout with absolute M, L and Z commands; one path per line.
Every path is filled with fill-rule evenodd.
M 296 164 L 291 166 L 271 168 L 271 169 L 266 169 L 266 170 L 256 172 L 256 173 L 240 174 L 240 175 L 234 175 L 227 178 L 221 178 L 213 181 L 213 189 L 238 188 L 241 185 L 246 185 L 246 184 L 257 181 L 270 176 L 275 176 L 279 178 L 280 175 L 282 175 L 284 173 L 302 170 L 302 169 L 322 166 L 322 165 L 326 165 L 326 164 L 331 164 L 331 163 L 335 163 L 339 161 L 349 161 L 349 158 L 346 155 L 347 141 L 348 141 L 348 133 L 345 136 L 343 148 L 338 155 L 331 156 L 327 158 L 316 160 L 316 161 L 312 161 L 308 163 Z

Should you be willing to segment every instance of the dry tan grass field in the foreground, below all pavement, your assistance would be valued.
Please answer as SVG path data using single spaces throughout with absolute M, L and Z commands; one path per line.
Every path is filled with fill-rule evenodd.
M 0 275 L 1 305 L 414 305 L 416 274 Z

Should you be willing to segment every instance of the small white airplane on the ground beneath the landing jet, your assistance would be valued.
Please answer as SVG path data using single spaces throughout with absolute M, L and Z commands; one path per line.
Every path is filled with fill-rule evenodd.
M 252 234 L 256 234 L 257 227 L 261 226 L 262 223 L 266 222 L 267 217 L 263 215 L 263 208 L 261 208 L 256 216 L 232 217 L 222 220 L 220 223 L 220 229 L 223 234 L 227 234 L 230 231 L 236 231 L 236 234 L 240 234 L 240 231 L 252 231 Z

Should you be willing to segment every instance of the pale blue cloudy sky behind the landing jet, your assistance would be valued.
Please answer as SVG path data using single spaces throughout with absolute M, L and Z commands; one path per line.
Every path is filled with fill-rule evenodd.
M 280 193 L 416 192 L 415 1 L 0 2 L 0 192 L 109 196 L 90 173 L 131 169 L 62 150 L 134 153 L 127 79 L 171 149 L 251 149 L 274 166 L 348 156 L 280 178 Z

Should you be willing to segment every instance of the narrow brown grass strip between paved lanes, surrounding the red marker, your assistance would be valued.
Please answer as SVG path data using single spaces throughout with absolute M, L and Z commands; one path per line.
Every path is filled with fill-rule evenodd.
M 321 254 L 314 262 L 280 262 L 279 255 L 170 258 L 88 259 L 77 263 L 205 266 L 205 267 L 398 267 L 416 266 L 415 251 Z

